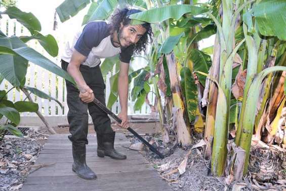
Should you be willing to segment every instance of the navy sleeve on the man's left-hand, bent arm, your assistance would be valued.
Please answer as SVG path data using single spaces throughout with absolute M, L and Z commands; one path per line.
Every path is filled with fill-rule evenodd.
M 88 56 L 93 47 L 97 47 L 108 35 L 105 22 L 90 22 L 81 32 L 74 49 L 84 56 Z M 107 34 L 106 34 L 107 33 Z

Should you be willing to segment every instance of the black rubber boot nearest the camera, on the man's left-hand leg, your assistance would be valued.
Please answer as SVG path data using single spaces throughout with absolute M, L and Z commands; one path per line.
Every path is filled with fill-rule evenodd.
M 86 180 L 95 180 L 96 174 L 87 166 L 86 163 L 86 145 L 72 143 L 72 171 L 80 178 Z

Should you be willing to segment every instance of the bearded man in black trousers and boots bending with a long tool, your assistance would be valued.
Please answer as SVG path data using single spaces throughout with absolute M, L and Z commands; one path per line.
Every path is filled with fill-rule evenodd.
M 66 70 L 76 82 L 80 92 L 68 81 L 67 104 L 68 123 L 72 142 L 74 171 L 80 178 L 96 179 L 96 174 L 86 164 L 86 144 L 88 144 L 88 110 L 92 117 L 97 133 L 97 155 L 108 156 L 112 159 L 124 160 L 125 155 L 114 149 L 114 137 L 110 119 L 105 112 L 92 101 L 94 97 L 105 104 L 105 84 L 100 71 L 100 58 L 107 58 L 119 54 L 120 71 L 118 77 L 119 102 L 121 111 L 118 117 L 122 120 L 118 124 L 121 128 L 128 128 L 127 100 L 128 100 L 128 69 L 133 53 L 145 51 L 148 40 L 151 40 L 149 23 L 130 25 L 129 16 L 139 10 L 123 9 L 111 17 L 108 24 L 105 21 L 93 21 L 86 24 L 75 34 L 72 42 L 66 44 L 62 57 L 62 68 Z

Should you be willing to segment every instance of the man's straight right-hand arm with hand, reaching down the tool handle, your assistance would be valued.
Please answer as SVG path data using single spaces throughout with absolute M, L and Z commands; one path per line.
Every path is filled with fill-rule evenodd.
M 122 128 L 128 128 L 128 69 L 129 63 L 120 62 L 120 70 L 118 76 L 118 95 L 119 102 L 121 106 L 121 111 L 118 114 L 118 117 L 122 120 L 122 123 L 119 124 Z

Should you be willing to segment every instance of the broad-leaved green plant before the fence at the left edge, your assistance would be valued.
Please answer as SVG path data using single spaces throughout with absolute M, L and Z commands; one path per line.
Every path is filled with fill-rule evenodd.
M 55 57 L 58 55 L 58 45 L 56 43 L 56 40 L 50 34 L 45 36 L 39 32 L 41 30 L 41 25 L 32 13 L 25 13 L 16 7 L 9 7 L 0 14 L 7 14 L 11 19 L 16 19 L 31 33 L 30 36 L 9 37 L 6 36 L 2 31 L 0 32 L 0 76 L 2 81 L 5 79 L 13 86 L 7 92 L 5 90 L 1 90 L 2 93 L 0 95 L 0 119 L 5 116 L 7 118 L 7 121 L 0 126 L 0 134 L 4 136 L 4 132 L 8 130 L 17 136 L 21 136 L 22 134 L 16 128 L 17 125 L 20 123 L 19 112 L 37 112 L 37 114 L 40 114 L 40 112 L 38 111 L 38 105 L 36 103 L 33 103 L 32 100 L 18 101 L 13 103 L 12 101 L 7 100 L 7 93 L 16 88 L 17 91 L 21 90 L 24 93 L 27 93 L 27 96 L 29 95 L 28 92 L 30 92 L 38 97 L 56 100 L 55 98 L 49 96 L 48 94 L 40 90 L 37 90 L 33 87 L 25 86 L 25 77 L 28 62 L 43 67 L 59 75 L 60 77 L 70 81 L 74 85 L 75 83 L 66 71 L 64 71 L 57 64 L 53 63 L 51 60 L 44 57 L 42 54 L 38 53 L 37 51 L 28 47 L 25 44 L 26 42 L 34 39 L 37 40 L 39 44 L 42 45 L 43 48 L 51 56 Z M 55 131 L 51 131 L 52 133 L 55 133 Z

